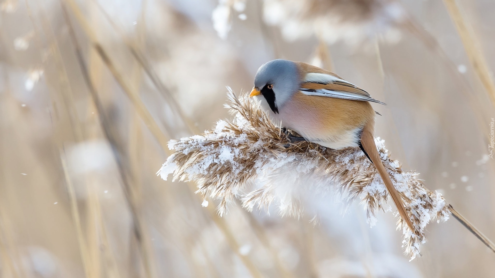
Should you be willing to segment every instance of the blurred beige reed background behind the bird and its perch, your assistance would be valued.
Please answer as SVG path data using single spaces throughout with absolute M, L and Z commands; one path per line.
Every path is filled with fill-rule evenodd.
M 386 102 L 375 134 L 404 170 L 495 238 L 491 0 L 2 0 L 1 277 L 494 277 L 454 219 L 422 256 L 390 213 L 316 204 L 320 224 L 218 218 L 155 173 L 168 139 L 229 117 L 274 58 L 337 72 Z M 204 204 L 204 203 L 203 203 Z

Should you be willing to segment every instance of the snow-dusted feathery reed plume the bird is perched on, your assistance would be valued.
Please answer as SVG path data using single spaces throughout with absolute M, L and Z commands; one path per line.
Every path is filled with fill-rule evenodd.
M 203 135 L 169 142 L 173 153 L 157 173 L 162 179 L 172 174 L 173 181 L 196 182 L 198 192 L 220 200 L 220 216 L 236 198 L 249 211 L 276 206 L 281 216 L 317 214 L 311 210 L 312 202 L 328 194 L 347 203 L 360 200 L 370 227 L 377 223 L 379 210 L 390 210 L 386 187 L 359 148 L 290 143 L 254 100 L 247 95 L 237 98 L 230 88 L 228 98 L 225 107 L 233 113 L 232 121 L 221 120 Z M 441 194 L 422 184 L 418 173 L 402 171 L 398 161 L 390 159 L 384 140 L 375 142 L 416 229 L 410 231 L 395 213 L 403 247 L 412 260 L 426 241 L 426 225 L 449 218 L 447 204 Z

